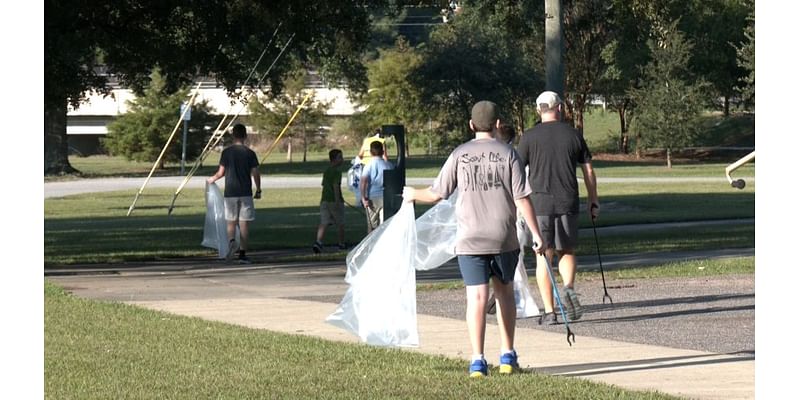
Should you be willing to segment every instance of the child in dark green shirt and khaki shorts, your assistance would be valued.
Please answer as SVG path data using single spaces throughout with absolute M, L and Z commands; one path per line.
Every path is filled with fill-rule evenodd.
M 336 225 L 339 238 L 339 250 L 346 250 L 344 242 L 344 198 L 342 197 L 342 169 L 344 155 L 339 149 L 328 152 L 331 165 L 322 174 L 322 198 L 319 202 L 320 223 L 317 228 L 317 240 L 311 249 L 314 253 L 322 252 L 322 239 L 329 225 Z

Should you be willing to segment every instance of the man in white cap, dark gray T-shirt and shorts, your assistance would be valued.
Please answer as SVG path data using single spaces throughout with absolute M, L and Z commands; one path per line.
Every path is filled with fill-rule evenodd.
M 578 165 L 583 170 L 583 182 L 588 192 L 587 208 L 592 219 L 600 213 L 600 202 L 597 198 L 597 178 L 592 169 L 592 154 L 583 135 L 571 125 L 561 122 L 561 98 L 554 92 L 543 92 L 536 99 L 536 111 L 542 117 L 542 122 L 523 133 L 517 151 L 522 165 L 530 168 L 528 180 L 533 189 L 533 207 L 547 249 L 545 254 L 536 256 L 536 281 L 545 310 L 540 322 L 552 325 L 558 320 L 545 256 L 550 261 L 554 255 L 558 256 L 558 271 L 564 282 L 564 289 L 560 293 L 567 317 L 577 320 L 583 315 L 574 286 L 580 205 L 575 174 Z

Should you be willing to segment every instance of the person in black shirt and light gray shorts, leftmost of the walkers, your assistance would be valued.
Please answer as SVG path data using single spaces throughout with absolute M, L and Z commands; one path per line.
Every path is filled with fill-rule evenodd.
M 225 177 L 225 220 L 228 221 L 228 255 L 227 260 L 233 258 L 237 250 L 236 227 L 239 227 L 238 246 L 239 264 L 250 264 L 247 258 L 247 240 L 249 237 L 249 221 L 255 220 L 255 205 L 253 199 L 261 198 L 261 174 L 258 172 L 258 158 L 244 141 L 247 139 L 247 130 L 244 125 L 233 126 L 233 144 L 222 151 L 219 159 L 219 169 L 214 176 L 208 178 L 208 183 Z M 253 194 L 252 182 L 256 184 Z

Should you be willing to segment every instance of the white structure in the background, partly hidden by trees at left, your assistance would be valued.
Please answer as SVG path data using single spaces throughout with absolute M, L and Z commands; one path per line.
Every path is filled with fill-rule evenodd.
M 311 74 L 309 90 L 315 91 L 315 98 L 320 102 L 329 102 L 327 115 L 331 117 L 346 117 L 364 111 L 364 107 L 351 101 L 347 90 L 344 88 L 328 88 L 315 75 Z M 108 134 L 108 124 L 118 116 L 128 112 L 128 102 L 136 99 L 130 89 L 125 89 L 115 82 L 110 82 L 113 88 L 107 96 L 92 93 L 88 100 L 78 108 L 69 108 L 67 111 L 67 140 L 70 151 L 78 155 L 90 155 L 100 152 L 100 138 Z M 196 87 L 195 83 L 192 89 Z M 197 102 L 207 100 L 212 113 L 217 115 L 239 115 L 246 124 L 250 114 L 247 107 L 241 102 L 229 97 L 227 91 L 219 87 L 213 80 L 202 81 Z M 175 122 L 178 122 L 180 110 L 175 110 Z M 173 127 L 165 127 L 172 129 Z

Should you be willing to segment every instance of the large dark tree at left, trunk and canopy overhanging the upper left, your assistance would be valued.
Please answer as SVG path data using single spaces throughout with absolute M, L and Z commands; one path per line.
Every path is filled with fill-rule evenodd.
M 330 82 L 365 91 L 360 56 L 369 38 L 367 6 L 382 3 L 46 0 L 45 174 L 75 172 L 67 158 L 67 105 L 78 106 L 91 90 L 108 93 L 106 73 L 137 94 L 154 67 L 164 75 L 167 92 L 198 75 L 213 75 L 233 92 L 279 26 L 276 45 L 292 37 L 286 57 L 317 66 Z M 276 45 L 268 49 L 267 60 L 277 56 Z M 269 65 L 256 72 L 265 73 Z M 289 71 L 276 63 L 264 85 L 280 92 Z

